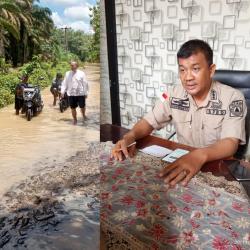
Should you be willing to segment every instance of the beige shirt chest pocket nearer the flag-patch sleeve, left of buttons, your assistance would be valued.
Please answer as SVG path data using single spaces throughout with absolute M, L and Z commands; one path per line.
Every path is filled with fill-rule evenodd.
M 190 145 L 190 141 L 192 140 L 191 113 L 185 111 L 176 111 L 173 112 L 172 116 L 178 142 Z

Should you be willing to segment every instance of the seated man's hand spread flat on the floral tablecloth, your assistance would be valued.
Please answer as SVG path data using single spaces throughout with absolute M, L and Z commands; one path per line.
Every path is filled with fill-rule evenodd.
M 192 177 L 200 171 L 205 162 L 204 155 L 197 149 L 164 167 L 160 176 L 164 178 L 165 184 L 170 187 L 174 187 L 179 182 L 186 186 Z

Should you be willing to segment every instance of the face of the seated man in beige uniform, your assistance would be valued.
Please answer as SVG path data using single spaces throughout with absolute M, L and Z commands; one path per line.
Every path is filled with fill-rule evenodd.
M 179 58 L 179 75 L 185 90 L 193 97 L 203 97 L 211 86 L 215 65 L 208 65 L 203 53 L 198 52 L 188 58 Z

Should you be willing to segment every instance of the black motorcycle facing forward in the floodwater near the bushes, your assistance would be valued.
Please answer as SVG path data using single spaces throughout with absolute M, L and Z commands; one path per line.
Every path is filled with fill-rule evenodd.
M 43 80 L 40 77 L 39 80 Z M 28 85 L 23 89 L 23 112 L 26 114 L 28 121 L 32 119 L 33 116 L 37 115 L 43 109 L 43 101 L 41 98 L 40 87 Z

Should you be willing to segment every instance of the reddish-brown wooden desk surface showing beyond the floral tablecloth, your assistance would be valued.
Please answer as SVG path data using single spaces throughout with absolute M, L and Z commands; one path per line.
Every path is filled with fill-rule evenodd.
M 110 125 L 110 124 L 103 124 L 100 128 L 100 141 L 112 141 L 113 143 L 116 143 L 124 134 L 128 132 L 128 129 Z M 193 148 L 179 144 L 176 142 L 168 141 L 156 136 L 147 136 L 146 138 L 143 138 L 142 140 L 139 140 L 137 143 L 137 148 L 144 148 L 150 145 L 159 145 L 162 147 L 166 147 L 169 149 L 176 149 L 176 148 L 183 148 L 187 150 L 193 150 Z M 234 177 L 230 174 L 229 170 L 223 163 L 223 161 L 213 161 L 210 163 L 205 164 L 202 169 L 202 172 L 212 172 L 215 176 L 224 176 L 227 180 L 234 181 Z

